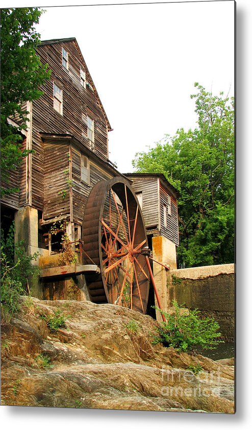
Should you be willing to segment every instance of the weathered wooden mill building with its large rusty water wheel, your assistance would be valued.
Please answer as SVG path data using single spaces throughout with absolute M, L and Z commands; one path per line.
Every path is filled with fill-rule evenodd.
M 19 192 L 2 199 L 3 226 L 15 219 L 15 240 L 39 252 L 33 295 L 145 313 L 154 296 L 142 249 L 177 267 L 178 193 L 162 174 L 121 174 L 109 161 L 111 125 L 75 38 L 43 41 L 37 53 L 52 75 L 24 106 L 22 145 L 33 152 L 12 173 Z M 165 269 L 153 271 L 165 301 Z

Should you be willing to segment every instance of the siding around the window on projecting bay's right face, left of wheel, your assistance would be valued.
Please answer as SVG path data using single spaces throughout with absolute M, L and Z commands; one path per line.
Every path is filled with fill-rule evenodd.
M 84 210 L 91 188 L 96 182 L 111 179 L 112 175 L 90 160 L 90 184 L 81 181 L 81 151 L 71 147 L 72 156 L 72 212 L 73 222 L 82 224 Z

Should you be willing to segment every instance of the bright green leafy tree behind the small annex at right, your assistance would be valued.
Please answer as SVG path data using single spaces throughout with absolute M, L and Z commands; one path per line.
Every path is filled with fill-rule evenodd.
M 166 135 L 133 161 L 179 190 L 178 262 L 186 267 L 234 262 L 234 98 L 194 86 L 197 127 Z

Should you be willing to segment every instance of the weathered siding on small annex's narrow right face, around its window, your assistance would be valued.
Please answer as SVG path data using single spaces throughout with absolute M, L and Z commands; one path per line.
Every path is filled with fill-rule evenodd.
M 171 197 L 171 214 L 168 214 L 168 195 Z M 164 208 L 167 207 L 167 228 L 164 226 Z M 179 230 L 178 230 L 178 206 L 174 197 L 168 193 L 167 189 L 160 181 L 160 217 L 161 217 L 161 234 L 167 237 L 171 242 L 179 245 Z

